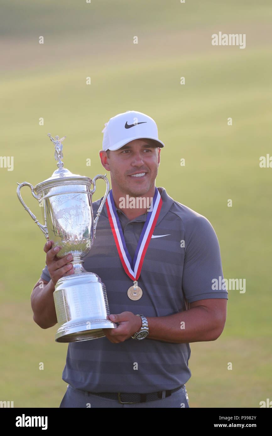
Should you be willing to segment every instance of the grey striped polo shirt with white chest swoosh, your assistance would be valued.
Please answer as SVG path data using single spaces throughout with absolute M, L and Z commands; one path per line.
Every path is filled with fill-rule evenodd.
M 93 247 L 84 268 L 100 276 L 106 286 L 110 313 L 129 311 L 145 317 L 164 317 L 186 310 L 187 302 L 226 298 L 226 290 L 212 290 L 212 279 L 223 271 L 217 236 L 210 222 L 158 187 L 162 208 L 138 279 L 140 300 L 127 296 L 132 280 L 124 272 L 104 205 Z M 101 200 L 93 203 L 96 215 Z M 128 252 L 133 259 L 147 214 L 129 221 L 117 209 Z M 184 242 L 182 242 L 184 241 Z M 50 280 L 48 269 L 41 278 Z M 62 379 L 90 392 L 148 393 L 174 389 L 191 377 L 189 344 L 130 338 L 112 344 L 106 337 L 68 345 Z M 137 365 L 136 365 L 137 363 Z M 138 368 L 138 369 L 135 369 Z

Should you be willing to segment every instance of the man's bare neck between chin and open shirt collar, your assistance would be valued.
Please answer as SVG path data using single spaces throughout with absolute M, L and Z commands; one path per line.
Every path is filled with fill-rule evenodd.
M 152 198 L 155 195 L 155 185 L 152 186 L 144 195 L 130 195 L 120 191 L 117 187 L 112 186 L 112 195 L 114 204 L 131 221 L 140 215 L 146 214 L 151 205 Z

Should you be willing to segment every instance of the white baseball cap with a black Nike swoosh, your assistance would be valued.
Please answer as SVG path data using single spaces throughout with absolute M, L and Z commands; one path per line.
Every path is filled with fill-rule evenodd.
M 144 113 L 128 110 L 110 118 L 102 130 L 103 151 L 118 150 L 135 139 L 152 139 L 158 147 L 164 143 L 158 139 L 158 128 L 154 119 Z

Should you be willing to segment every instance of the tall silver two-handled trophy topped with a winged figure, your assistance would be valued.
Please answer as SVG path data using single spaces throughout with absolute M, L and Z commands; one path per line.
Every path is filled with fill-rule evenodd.
M 106 176 L 90 177 L 72 174 L 63 168 L 61 159 L 62 141 L 48 133 L 55 144 L 55 160 L 58 169 L 52 177 L 33 187 L 28 182 L 18 183 L 17 195 L 31 218 L 39 226 L 45 238 L 54 241 L 62 249 L 57 257 L 72 253 L 74 274 L 58 280 L 54 291 L 55 310 L 59 329 L 55 334 L 57 342 L 87 341 L 103 337 L 103 328 L 116 328 L 107 319 L 110 315 L 105 285 L 93 272 L 83 268 L 83 257 L 90 251 L 95 238 L 96 225 L 110 190 Z M 103 179 L 107 184 L 95 220 L 93 219 L 92 195 L 96 190 L 96 180 Z M 93 185 L 93 188 L 92 188 Z M 29 186 L 34 198 L 44 206 L 45 225 L 26 206 L 21 198 L 21 187 Z M 36 194 L 35 194 L 36 193 Z

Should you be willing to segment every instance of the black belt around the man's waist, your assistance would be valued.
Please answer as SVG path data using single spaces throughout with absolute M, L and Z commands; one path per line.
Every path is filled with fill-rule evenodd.
M 165 398 L 169 397 L 173 392 L 178 391 L 183 388 L 184 385 L 179 386 L 175 389 L 170 389 L 169 391 L 160 392 L 150 392 L 148 394 L 130 394 L 125 392 L 87 392 L 76 389 L 76 391 L 84 392 L 85 395 L 98 395 L 99 397 L 108 398 L 110 400 L 116 400 L 120 404 L 134 404 L 134 403 L 144 403 L 146 401 L 156 401 L 162 399 L 162 393 L 165 392 Z

